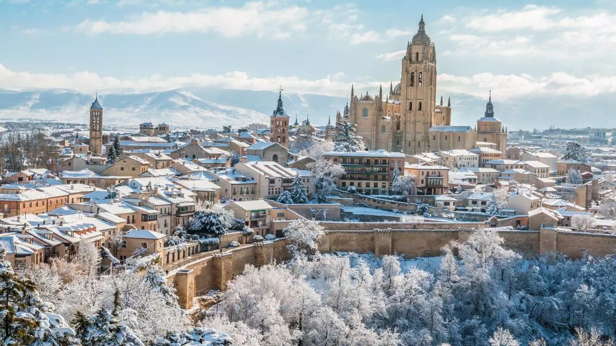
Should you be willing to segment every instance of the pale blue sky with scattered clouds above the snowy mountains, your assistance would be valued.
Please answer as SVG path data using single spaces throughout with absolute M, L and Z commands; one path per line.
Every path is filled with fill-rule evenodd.
M 0 89 L 373 94 L 422 14 L 439 92 L 616 94 L 612 0 L 0 0 Z

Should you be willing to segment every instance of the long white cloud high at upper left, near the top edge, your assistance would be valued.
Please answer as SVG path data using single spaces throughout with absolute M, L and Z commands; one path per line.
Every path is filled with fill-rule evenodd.
M 264 2 L 248 2 L 243 7 L 211 7 L 197 12 L 144 12 L 121 22 L 87 19 L 75 30 L 91 35 L 214 32 L 227 37 L 256 34 L 260 38 L 286 38 L 306 29 L 308 14 L 304 7 L 270 9 Z

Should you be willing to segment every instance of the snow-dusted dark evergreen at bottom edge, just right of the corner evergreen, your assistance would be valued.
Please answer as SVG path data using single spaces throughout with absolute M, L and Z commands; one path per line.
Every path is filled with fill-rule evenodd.
M 91 318 L 77 312 L 73 319 L 77 337 L 84 346 L 143 346 L 144 343 L 130 328 L 118 321 L 105 308 L 100 308 Z

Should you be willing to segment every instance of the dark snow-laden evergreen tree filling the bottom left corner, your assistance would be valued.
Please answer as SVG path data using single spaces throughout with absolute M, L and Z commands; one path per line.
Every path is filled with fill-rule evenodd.
M 75 332 L 54 305 L 39 297 L 33 281 L 15 274 L 0 247 L 0 337 L 2 345 L 71 345 Z

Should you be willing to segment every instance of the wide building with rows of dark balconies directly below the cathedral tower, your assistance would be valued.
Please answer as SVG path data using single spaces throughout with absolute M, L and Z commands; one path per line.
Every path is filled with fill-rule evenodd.
M 347 190 L 354 186 L 357 193 L 380 195 L 389 193 L 392 183 L 392 172 L 397 164 L 400 175 L 404 175 L 404 154 L 389 151 L 328 151 L 324 159 L 344 167 L 344 174 L 338 179 L 338 188 Z

